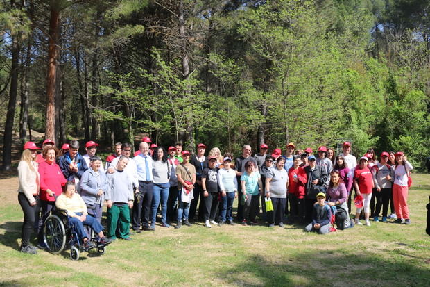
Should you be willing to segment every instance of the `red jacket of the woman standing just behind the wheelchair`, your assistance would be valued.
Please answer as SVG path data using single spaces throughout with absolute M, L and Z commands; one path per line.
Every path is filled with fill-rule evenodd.
M 55 202 L 55 197 L 51 197 L 46 190 L 52 190 L 56 196 L 61 195 L 62 185 L 67 182 L 60 170 L 60 166 L 54 163 L 43 161 L 39 164 L 40 174 L 40 199 Z

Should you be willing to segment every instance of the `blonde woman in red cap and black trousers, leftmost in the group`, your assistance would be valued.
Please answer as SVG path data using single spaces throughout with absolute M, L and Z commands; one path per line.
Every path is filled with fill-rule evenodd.
M 24 222 L 21 231 L 21 252 L 37 254 L 37 248 L 30 244 L 35 223 L 35 207 L 39 193 L 40 178 L 37 172 L 37 149 L 34 142 L 26 142 L 22 151 L 21 161 L 18 165 L 18 202 L 24 213 Z

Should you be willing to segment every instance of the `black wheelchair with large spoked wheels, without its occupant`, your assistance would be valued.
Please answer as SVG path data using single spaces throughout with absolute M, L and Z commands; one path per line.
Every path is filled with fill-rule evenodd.
M 46 218 L 43 225 L 43 240 L 49 252 L 59 254 L 65 249 L 66 244 L 70 247 L 70 259 L 78 261 L 80 252 L 89 252 L 96 248 L 98 254 L 104 254 L 107 244 L 96 241 L 92 230 L 89 240 L 96 243 L 96 247 L 83 247 L 78 234 L 69 222 L 67 211 L 55 208 L 55 211 Z

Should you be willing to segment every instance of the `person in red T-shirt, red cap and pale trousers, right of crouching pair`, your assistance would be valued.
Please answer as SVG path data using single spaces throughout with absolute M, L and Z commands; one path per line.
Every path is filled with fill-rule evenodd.
M 361 195 L 363 197 L 364 218 L 365 225 L 370 227 L 369 212 L 370 212 L 370 200 L 372 199 L 372 189 L 375 186 L 374 177 L 370 169 L 368 168 L 368 157 L 362 156 L 359 161 L 359 166 L 354 171 L 354 186 L 356 196 Z M 361 207 L 356 209 L 355 213 L 355 224 L 363 225 L 359 221 L 361 213 Z

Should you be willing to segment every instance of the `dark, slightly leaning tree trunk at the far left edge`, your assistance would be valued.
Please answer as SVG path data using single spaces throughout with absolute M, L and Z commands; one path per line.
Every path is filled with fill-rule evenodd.
M 12 165 L 12 133 L 15 120 L 15 108 L 17 104 L 18 76 L 19 76 L 19 52 L 21 49 L 21 33 L 12 36 L 12 66 L 10 67 L 10 90 L 8 112 L 3 136 L 3 171 L 10 170 Z

